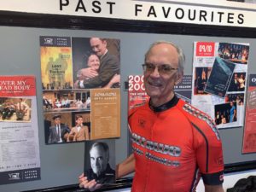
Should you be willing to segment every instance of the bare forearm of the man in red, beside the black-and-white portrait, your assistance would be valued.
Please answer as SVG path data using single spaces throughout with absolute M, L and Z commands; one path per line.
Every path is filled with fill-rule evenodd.
M 115 170 L 115 177 L 124 177 L 125 175 L 128 175 L 131 172 L 135 171 L 135 157 L 134 154 L 131 154 L 126 160 L 119 163 L 119 165 L 116 166 Z

